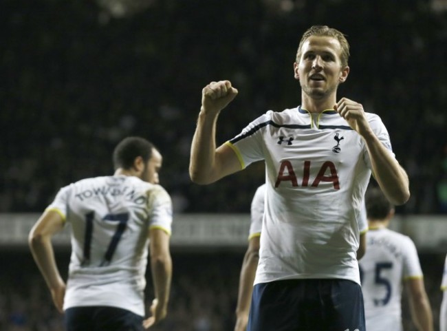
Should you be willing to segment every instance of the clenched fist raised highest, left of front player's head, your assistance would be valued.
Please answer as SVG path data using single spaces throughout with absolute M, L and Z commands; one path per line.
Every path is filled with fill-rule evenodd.
M 218 114 L 237 93 L 230 81 L 211 82 L 201 90 L 201 111 L 206 114 Z

